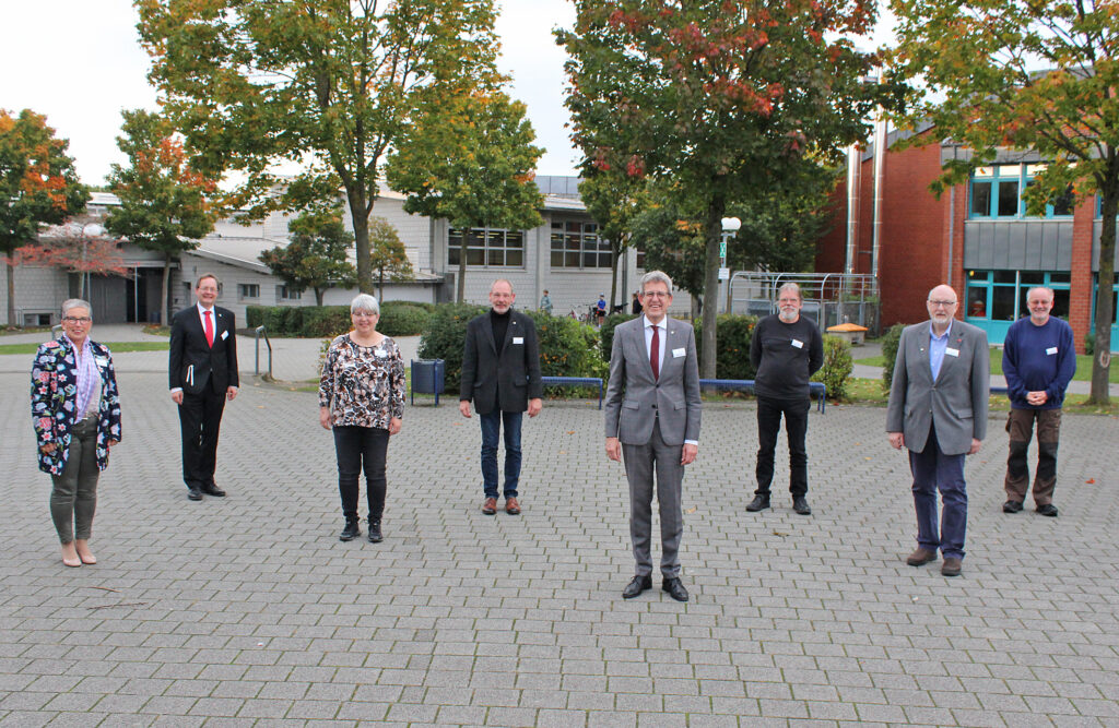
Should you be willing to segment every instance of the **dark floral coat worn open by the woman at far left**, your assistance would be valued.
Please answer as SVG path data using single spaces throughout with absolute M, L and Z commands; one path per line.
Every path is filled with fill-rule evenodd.
M 101 374 L 101 407 L 97 412 L 97 469 L 109 465 L 109 441 L 121 439 L 121 400 L 116 391 L 116 372 L 107 347 L 90 342 L 97 371 Z M 31 422 L 35 425 L 39 470 L 62 475 L 69 454 L 70 427 L 77 408 L 77 360 L 74 344 L 65 338 L 39 347 L 31 366 Z M 47 443 L 57 443 L 50 453 L 43 452 Z

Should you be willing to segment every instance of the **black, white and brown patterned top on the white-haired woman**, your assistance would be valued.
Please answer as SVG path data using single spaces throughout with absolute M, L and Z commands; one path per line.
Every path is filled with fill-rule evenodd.
M 336 427 L 388 429 L 392 417 L 404 417 L 404 360 L 395 341 L 385 337 L 363 347 L 344 333 L 330 342 L 319 406 L 330 407 Z

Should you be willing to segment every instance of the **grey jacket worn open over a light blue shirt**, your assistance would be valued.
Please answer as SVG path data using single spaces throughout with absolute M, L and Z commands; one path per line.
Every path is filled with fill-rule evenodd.
M 981 441 L 987 436 L 990 396 L 987 334 L 970 323 L 952 321 L 948 351 L 933 382 L 929 327 L 930 322 L 924 321 L 902 332 L 890 386 L 886 432 L 904 434 L 905 446 L 920 453 L 929 439 L 929 426 L 935 424 L 940 451 L 961 455 L 971 448 L 972 437 Z

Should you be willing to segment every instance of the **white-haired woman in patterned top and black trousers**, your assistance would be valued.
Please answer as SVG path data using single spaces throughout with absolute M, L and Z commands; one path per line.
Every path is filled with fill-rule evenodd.
M 346 527 L 338 535 L 350 541 L 358 528 L 358 475 L 365 471 L 369 500 L 369 541 L 382 540 L 385 511 L 385 456 L 388 436 L 401 432 L 404 416 L 404 361 L 396 342 L 377 333 L 380 306 L 368 294 L 350 303 L 354 330 L 330 342 L 319 382 L 319 423 L 335 431 L 338 491 Z

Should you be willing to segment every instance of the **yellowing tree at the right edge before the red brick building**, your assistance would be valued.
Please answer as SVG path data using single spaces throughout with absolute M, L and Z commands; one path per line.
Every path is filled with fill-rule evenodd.
M 1032 214 L 1071 188 L 1078 198 L 1100 197 L 1099 292 L 1090 401 L 1109 404 L 1119 212 L 1119 22 L 1107 0 L 893 0 L 899 46 L 895 69 L 918 78 L 924 95 L 910 126 L 931 121 L 932 134 L 974 151 L 946 164 L 938 195 L 963 183 L 999 148 L 1036 150 L 1049 164 L 1025 195 Z

